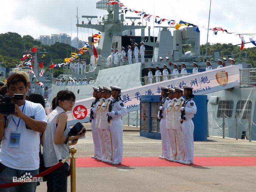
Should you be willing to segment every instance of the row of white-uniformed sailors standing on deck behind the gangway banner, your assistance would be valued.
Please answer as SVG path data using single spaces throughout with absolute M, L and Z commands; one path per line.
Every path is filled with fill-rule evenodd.
M 230 58 L 230 63 L 231 63 L 231 66 L 232 65 L 235 65 L 235 59 L 232 59 Z M 218 66 L 216 69 L 219 69 L 219 68 L 222 68 L 223 67 L 223 61 L 218 59 Z M 212 70 L 213 68 L 211 67 L 211 62 L 206 60 L 206 68 L 205 68 L 205 71 L 209 71 L 209 70 Z M 192 70 L 192 73 L 199 73 L 199 70 L 198 70 L 198 65 L 196 62 L 193 62 L 193 70 Z M 179 73 L 179 70 L 178 70 L 178 65 L 176 63 L 173 64 L 173 71 L 172 71 L 172 75 L 174 75 L 174 78 L 177 78 L 178 77 L 178 74 L 184 74 L 182 76 L 185 76 L 185 74 L 187 74 L 187 70 L 186 70 L 186 64 L 185 63 L 181 63 L 181 73 Z M 163 65 L 163 73 L 160 72 L 159 70 L 159 66 L 156 66 L 156 72 L 155 72 L 155 76 L 159 76 L 159 75 L 163 75 L 163 81 L 165 80 L 168 80 L 168 76 L 167 75 L 170 75 L 168 70 L 167 70 L 167 65 L 164 64 Z M 152 73 L 152 67 L 148 67 L 148 81 L 149 81 L 149 84 L 153 83 L 153 73 Z M 159 82 L 160 81 L 160 77 L 157 77 L 156 78 L 156 82 Z

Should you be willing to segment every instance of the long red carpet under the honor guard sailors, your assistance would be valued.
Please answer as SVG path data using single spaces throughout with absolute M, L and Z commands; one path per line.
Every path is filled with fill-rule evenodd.
M 120 165 L 112 165 L 89 157 L 77 158 L 76 167 L 112 166 L 256 166 L 256 157 L 194 157 L 193 165 L 184 165 L 158 157 L 124 157 Z

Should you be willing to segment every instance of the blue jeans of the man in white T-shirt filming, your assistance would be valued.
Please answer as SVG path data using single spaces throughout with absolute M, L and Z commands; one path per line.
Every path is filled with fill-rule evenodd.
M 18 169 L 12 169 L 10 167 L 6 167 L 0 173 L 0 184 L 13 182 L 13 177 L 20 178 L 23 175 L 35 176 L 38 174 L 38 171 L 39 169 L 26 171 L 26 170 L 18 170 Z M 37 185 L 37 182 L 27 182 L 21 185 L 13 186 L 13 187 L 0 188 L 0 192 L 35 192 L 36 185 Z

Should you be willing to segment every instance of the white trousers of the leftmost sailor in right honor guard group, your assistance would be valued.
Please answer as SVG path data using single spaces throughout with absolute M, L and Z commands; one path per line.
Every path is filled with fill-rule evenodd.
M 166 118 L 162 118 L 160 121 L 160 131 L 161 131 L 161 139 L 162 139 L 162 157 L 170 158 L 170 141 L 168 139 L 168 133 L 165 128 Z

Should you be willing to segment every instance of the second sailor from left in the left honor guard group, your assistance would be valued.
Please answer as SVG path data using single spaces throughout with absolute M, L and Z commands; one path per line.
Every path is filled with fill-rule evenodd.
M 95 157 L 94 159 L 97 160 L 105 160 L 106 159 L 106 147 L 105 147 L 105 139 L 104 139 L 104 134 L 103 130 L 99 129 L 99 120 L 100 120 L 100 108 L 102 104 L 105 102 L 104 94 L 103 94 L 103 87 L 99 86 L 99 93 L 98 93 L 99 101 L 96 105 L 96 111 L 94 110 L 93 112 L 96 112 L 96 122 L 95 122 L 95 128 L 98 129 L 99 132 L 99 141 L 100 141 L 100 149 L 101 149 L 101 157 Z

